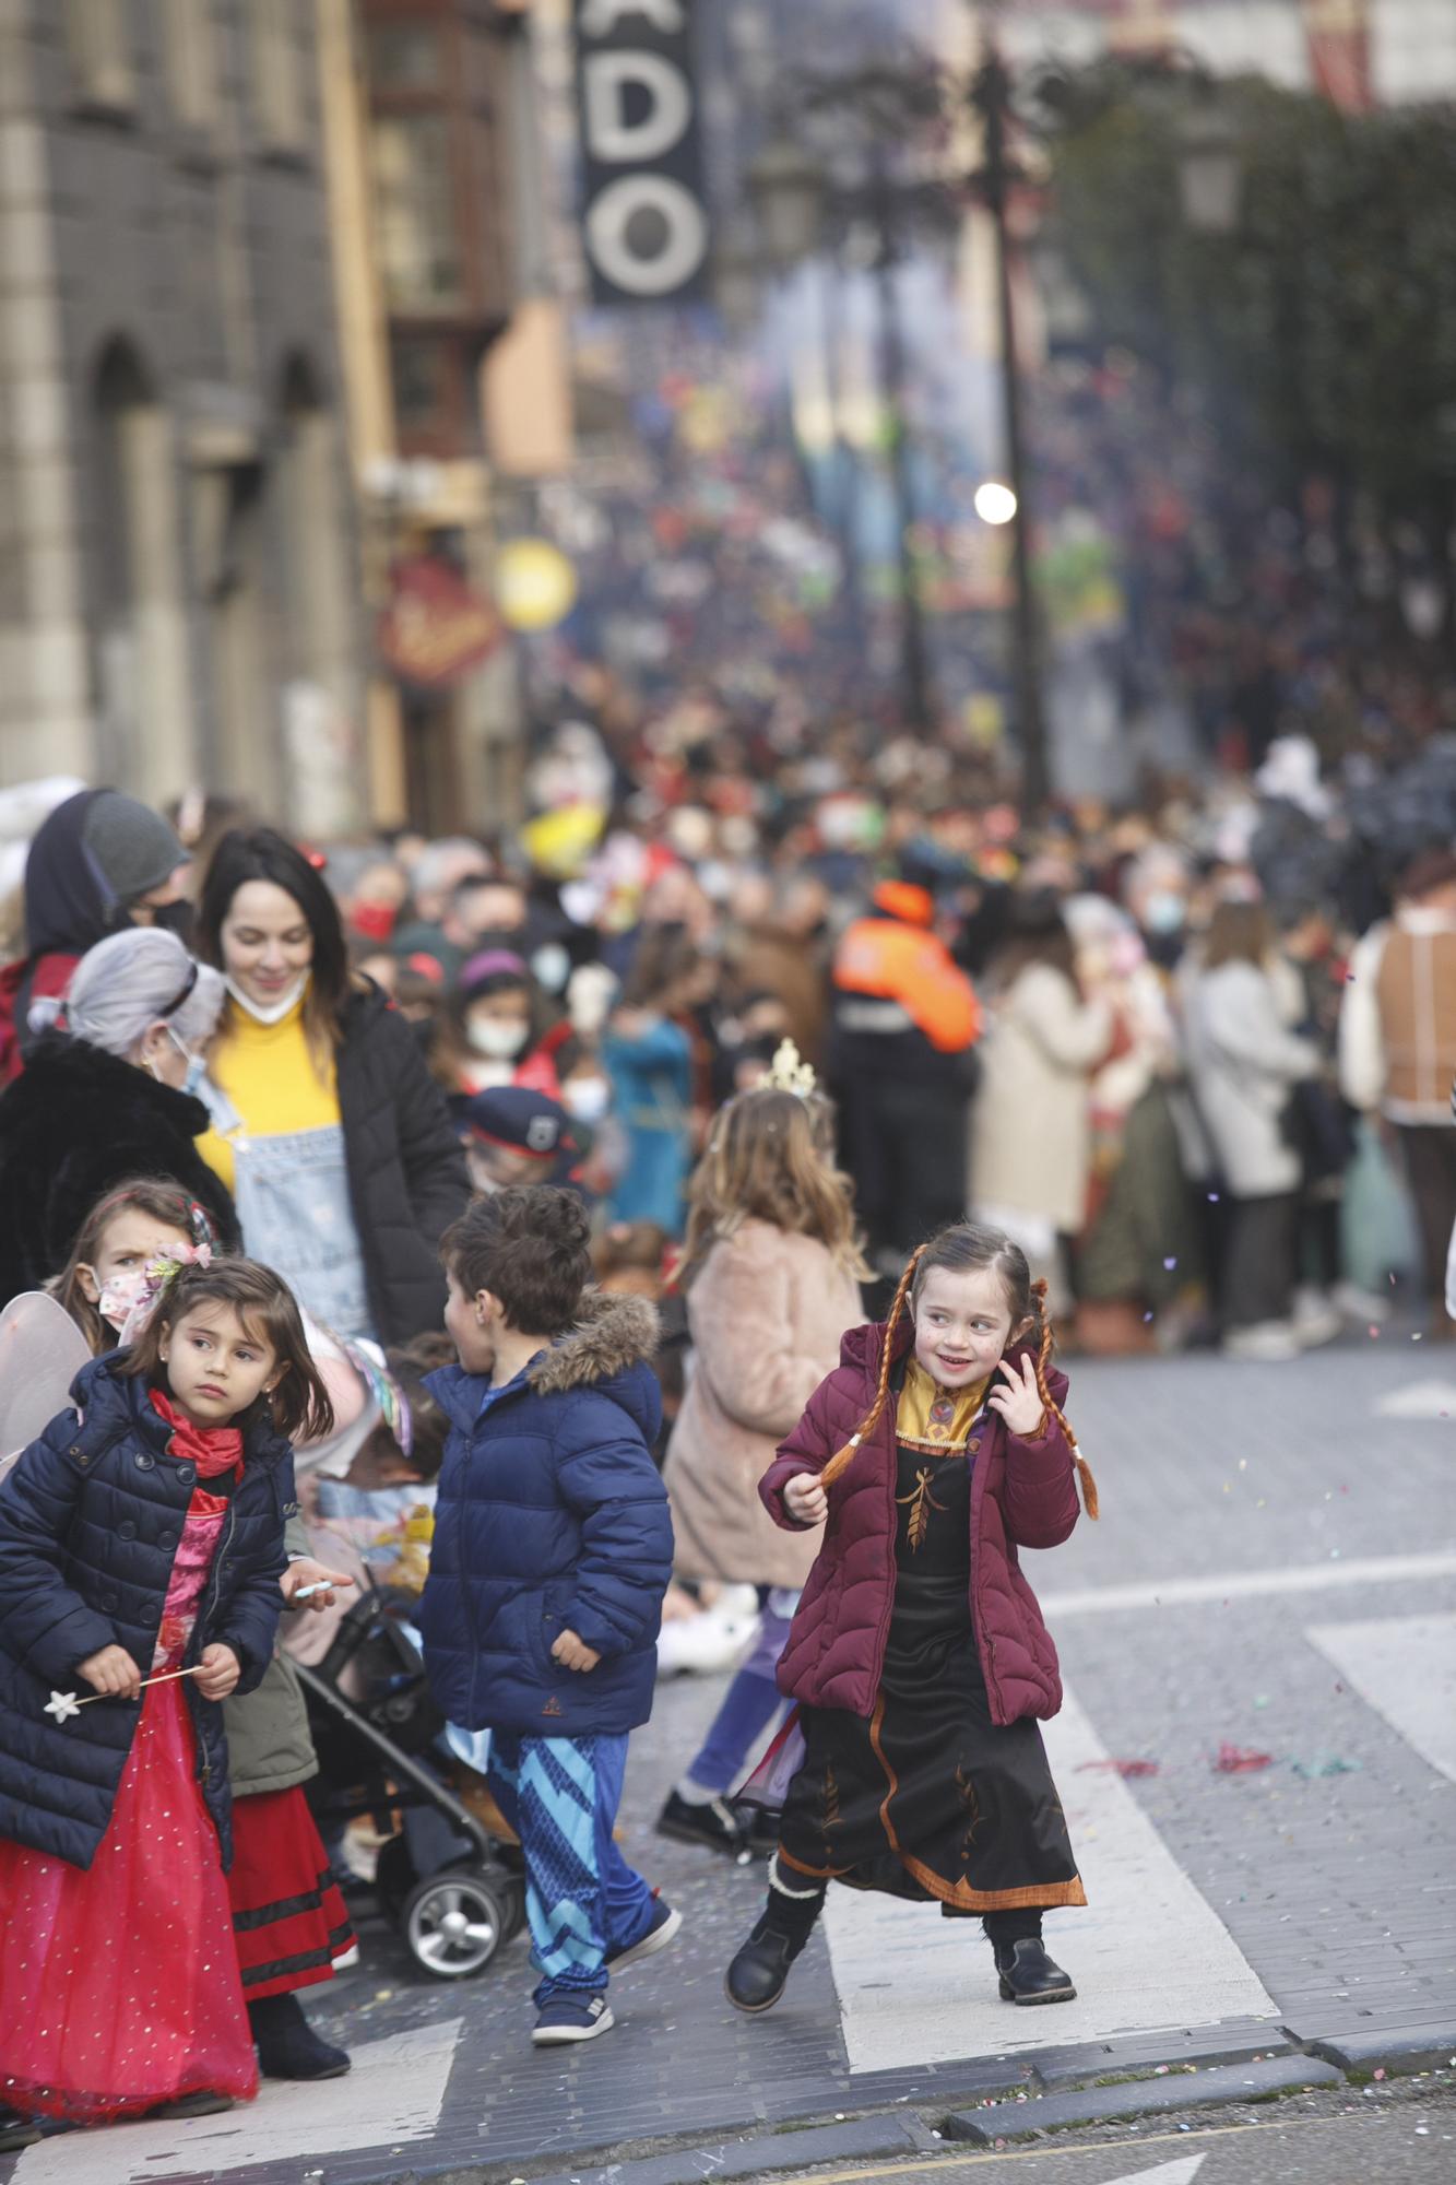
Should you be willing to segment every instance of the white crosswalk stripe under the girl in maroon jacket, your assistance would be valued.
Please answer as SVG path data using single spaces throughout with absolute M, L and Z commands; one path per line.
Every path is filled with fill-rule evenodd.
M 1108 1752 L 1071 1693 L 1045 1737 L 1089 1897 L 1087 1910 L 1054 1912 L 1047 1923 L 1052 1956 L 1078 1982 L 1076 2001 L 1036 2010 L 1003 2004 L 977 1921 L 831 1890 L 824 1921 L 850 2071 L 1216 2019 L 1277 2023 L 1264 1984 L 1128 1785 L 1113 1770 L 1080 1772 Z

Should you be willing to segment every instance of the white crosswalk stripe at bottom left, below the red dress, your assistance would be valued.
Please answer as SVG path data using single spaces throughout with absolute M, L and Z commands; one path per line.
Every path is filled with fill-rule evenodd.
M 439 2122 L 461 2019 L 361 2043 L 348 2078 L 265 2080 L 247 2106 L 186 2124 L 116 2124 L 26 2148 L 13 2185 L 146 2185 L 151 2178 L 289 2163 L 289 2176 L 328 2176 L 328 2157 L 428 2139 Z M 317 2170 L 308 2159 L 317 2157 Z

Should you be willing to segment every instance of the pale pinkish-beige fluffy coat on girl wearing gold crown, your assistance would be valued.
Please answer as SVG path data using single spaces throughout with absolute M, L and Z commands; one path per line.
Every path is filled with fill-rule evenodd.
M 861 1318 L 859 1285 L 813 1237 L 745 1221 L 713 1245 L 689 1289 L 693 1370 L 662 1466 L 682 1578 L 805 1584 L 820 1534 L 780 1532 L 759 1479 Z

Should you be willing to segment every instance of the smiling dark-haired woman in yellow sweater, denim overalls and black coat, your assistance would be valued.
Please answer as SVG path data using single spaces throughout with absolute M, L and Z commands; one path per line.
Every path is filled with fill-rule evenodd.
M 199 1149 L 245 1250 L 339 1335 L 442 1326 L 435 1248 L 470 1200 L 466 1158 L 409 1023 L 350 975 L 321 874 L 271 828 L 236 830 L 197 922 L 227 983 Z

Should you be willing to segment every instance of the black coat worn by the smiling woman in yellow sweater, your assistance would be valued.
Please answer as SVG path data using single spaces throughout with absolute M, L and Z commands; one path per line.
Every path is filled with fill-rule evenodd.
M 470 1204 L 466 1154 L 409 1018 L 374 985 L 345 1007 L 337 1068 L 369 1318 L 407 1344 L 444 1324 L 439 1237 Z

